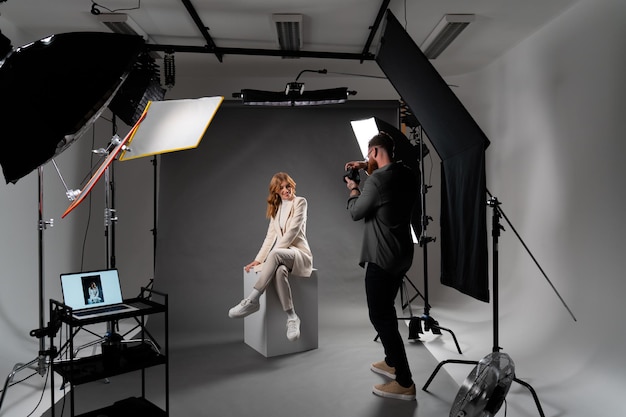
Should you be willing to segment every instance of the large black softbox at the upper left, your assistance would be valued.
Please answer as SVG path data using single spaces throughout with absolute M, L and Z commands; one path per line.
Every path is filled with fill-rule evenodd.
M 144 48 L 140 36 L 75 32 L 17 48 L 0 65 L 0 164 L 17 182 L 104 110 Z

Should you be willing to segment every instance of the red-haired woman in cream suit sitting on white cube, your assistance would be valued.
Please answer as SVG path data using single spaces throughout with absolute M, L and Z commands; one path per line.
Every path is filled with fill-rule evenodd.
M 231 318 L 246 317 L 259 310 L 259 297 L 274 281 L 278 298 L 287 313 L 287 339 L 300 337 L 300 318 L 295 312 L 289 286 L 289 273 L 309 277 L 313 255 L 306 239 L 307 201 L 296 197 L 296 183 L 286 173 L 272 177 L 267 197 L 269 227 L 259 253 L 244 268 L 260 272 L 250 295 L 231 308 Z

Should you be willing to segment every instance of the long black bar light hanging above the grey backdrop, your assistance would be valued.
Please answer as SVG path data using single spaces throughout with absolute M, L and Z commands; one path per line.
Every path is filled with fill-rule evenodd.
M 318 106 L 345 103 L 348 96 L 356 95 L 356 91 L 348 90 L 347 87 L 304 91 L 304 83 L 298 82 L 298 79 L 305 72 L 328 73 L 325 69 L 303 70 L 294 82 L 287 83 L 284 91 L 243 89 L 233 93 L 233 98 L 239 98 L 249 106 Z

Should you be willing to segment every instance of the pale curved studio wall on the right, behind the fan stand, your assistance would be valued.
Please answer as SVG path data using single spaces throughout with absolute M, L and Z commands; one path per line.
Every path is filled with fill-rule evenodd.
M 546 415 L 623 409 L 625 19 L 622 1 L 582 1 L 485 70 L 451 80 L 492 142 L 487 188 L 577 318 L 503 219 L 500 346 Z M 489 353 L 491 305 L 435 288 L 459 320 L 463 358 Z M 471 370 L 446 368 L 459 383 Z M 514 383 L 507 399 L 507 415 L 536 415 L 525 388 Z

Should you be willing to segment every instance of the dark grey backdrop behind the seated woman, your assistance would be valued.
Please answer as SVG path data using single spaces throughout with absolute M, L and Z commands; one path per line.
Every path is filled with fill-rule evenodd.
M 265 237 L 268 185 L 278 171 L 294 178 L 297 195 L 309 203 L 320 321 L 344 297 L 364 304 L 357 264 L 362 225 L 346 211 L 342 175 L 345 162 L 362 157 L 350 121 L 371 116 L 397 126 L 398 103 L 251 108 L 226 102 L 197 149 L 161 158 L 155 286 L 170 296 L 173 344 L 243 338 L 243 321 L 227 312 L 241 300 L 242 267 Z

